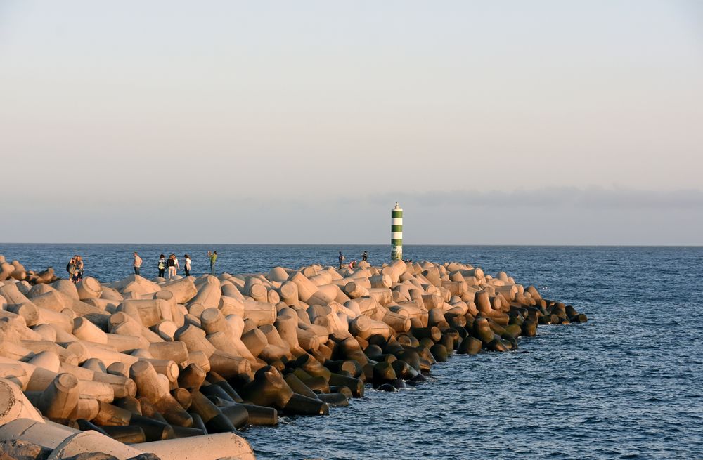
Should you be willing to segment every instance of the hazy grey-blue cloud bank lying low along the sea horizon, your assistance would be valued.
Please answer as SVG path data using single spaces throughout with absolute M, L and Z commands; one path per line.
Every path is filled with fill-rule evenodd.
M 404 208 L 406 245 L 702 244 L 703 192 L 604 188 L 317 199 L 200 191 L 158 203 L 95 195 L 63 206 L 31 199 L 5 210 L 22 225 L 5 228 L 3 242 L 387 244 L 394 199 Z

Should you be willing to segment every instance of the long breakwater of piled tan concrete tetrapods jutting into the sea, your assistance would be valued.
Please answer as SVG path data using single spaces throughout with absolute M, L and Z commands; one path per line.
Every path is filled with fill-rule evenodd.
M 416 385 L 453 353 L 587 321 L 463 263 L 78 284 L 2 256 L 0 269 L 8 459 L 253 459 L 240 428 L 329 414 L 367 385 Z

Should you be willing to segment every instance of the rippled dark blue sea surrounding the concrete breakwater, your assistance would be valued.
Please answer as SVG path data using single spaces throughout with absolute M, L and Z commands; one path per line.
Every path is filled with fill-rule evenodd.
M 0 244 L 27 268 L 61 274 L 72 254 L 110 281 L 156 275 L 160 251 L 193 256 L 193 272 L 261 272 L 333 264 L 337 251 L 370 261 L 387 246 Z M 505 270 L 589 322 L 541 326 L 510 353 L 458 356 L 427 383 L 366 397 L 330 416 L 285 417 L 241 433 L 259 459 L 703 459 L 703 298 L 700 247 L 406 246 L 406 258 Z M 149 272 L 150 271 L 150 272 Z

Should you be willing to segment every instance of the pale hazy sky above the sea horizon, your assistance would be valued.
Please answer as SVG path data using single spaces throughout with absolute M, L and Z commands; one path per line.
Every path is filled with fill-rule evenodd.
M 0 242 L 703 244 L 699 1 L 0 0 Z

